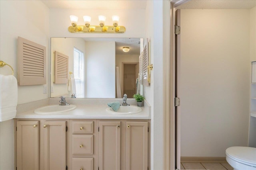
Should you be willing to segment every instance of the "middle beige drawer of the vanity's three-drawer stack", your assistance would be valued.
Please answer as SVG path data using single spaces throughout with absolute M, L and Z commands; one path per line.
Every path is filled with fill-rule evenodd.
M 72 154 L 93 154 L 93 135 L 72 135 Z

